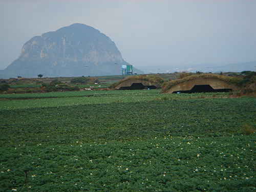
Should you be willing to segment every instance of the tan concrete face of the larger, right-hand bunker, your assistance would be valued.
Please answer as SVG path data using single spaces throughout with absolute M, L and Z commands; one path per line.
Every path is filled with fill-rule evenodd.
M 165 93 L 228 92 L 237 91 L 232 84 L 219 79 L 193 79 L 173 86 Z

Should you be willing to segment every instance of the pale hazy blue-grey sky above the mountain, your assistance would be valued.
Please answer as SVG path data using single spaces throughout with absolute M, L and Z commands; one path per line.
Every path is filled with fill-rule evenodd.
M 0 69 L 33 36 L 82 23 L 136 66 L 256 60 L 256 1 L 0 0 Z

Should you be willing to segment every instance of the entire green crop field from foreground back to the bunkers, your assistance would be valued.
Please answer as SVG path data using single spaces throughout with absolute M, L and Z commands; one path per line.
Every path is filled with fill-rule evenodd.
M 0 191 L 255 191 L 256 98 L 227 96 L 6 95 Z

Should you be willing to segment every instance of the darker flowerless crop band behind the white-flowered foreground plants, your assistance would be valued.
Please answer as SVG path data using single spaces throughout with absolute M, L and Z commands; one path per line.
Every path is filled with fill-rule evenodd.
M 0 111 L 1 143 L 222 136 L 255 127 L 255 99 L 152 100 Z

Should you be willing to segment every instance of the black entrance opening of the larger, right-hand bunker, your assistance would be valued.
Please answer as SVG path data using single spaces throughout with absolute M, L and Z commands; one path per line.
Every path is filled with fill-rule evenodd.
M 211 92 L 229 92 L 231 89 L 213 89 L 209 84 L 194 86 L 191 90 L 174 91 L 173 93 L 211 93 Z

